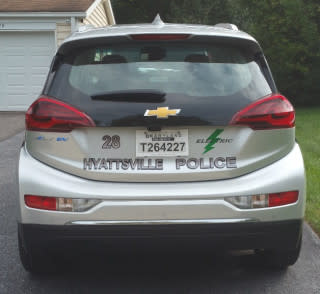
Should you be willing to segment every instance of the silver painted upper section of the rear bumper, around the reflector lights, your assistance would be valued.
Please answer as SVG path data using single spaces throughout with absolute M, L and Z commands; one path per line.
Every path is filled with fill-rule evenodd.
M 268 223 L 303 219 L 305 174 L 299 146 L 282 159 L 241 177 L 202 182 L 119 183 L 82 179 L 56 170 L 21 149 L 18 221 L 24 224 Z M 225 197 L 299 191 L 296 203 L 260 209 L 239 209 Z M 88 211 L 56 212 L 32 209 L 24 195 L 98 199 Z

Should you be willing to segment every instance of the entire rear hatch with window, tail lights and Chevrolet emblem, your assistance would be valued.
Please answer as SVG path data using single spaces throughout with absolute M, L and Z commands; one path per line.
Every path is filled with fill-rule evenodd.
M 294 110 L 258 44 L 142 36 L 58 52 L 26 115 L 33 157 L 92 180 L 177 182 L 241 176 L 292 149 Z

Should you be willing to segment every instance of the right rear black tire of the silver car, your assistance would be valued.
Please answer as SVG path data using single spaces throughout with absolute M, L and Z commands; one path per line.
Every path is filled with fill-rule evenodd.
M 300 237 L 295 248 L 281 250 L 256 250 L 256 254 L 261 258 L 261 263 L 269 268 L 285 269 L 295 264 L 301 250 L 302 237 Z

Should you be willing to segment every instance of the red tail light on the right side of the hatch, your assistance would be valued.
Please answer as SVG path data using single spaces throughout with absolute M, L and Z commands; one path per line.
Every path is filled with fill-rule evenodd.
M 246 125 L 254 130 L 292 128 L 294 124 L 294 108 L 279 94 L 250 104 L 237 112 L 230 122 L 230 125 Z

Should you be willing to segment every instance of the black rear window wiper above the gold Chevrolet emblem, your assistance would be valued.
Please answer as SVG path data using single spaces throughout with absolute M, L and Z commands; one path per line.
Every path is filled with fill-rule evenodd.
M 96 93 L 92 100 L 115 102 L 164 102 L 166 93 L 158 90 L 123 90 L 106 93 Z

